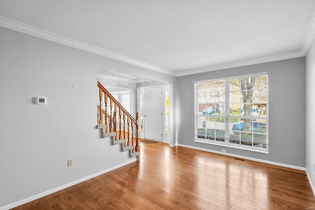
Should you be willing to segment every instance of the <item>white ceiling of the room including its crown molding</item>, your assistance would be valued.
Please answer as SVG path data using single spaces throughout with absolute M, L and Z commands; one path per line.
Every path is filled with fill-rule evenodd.
M 302 57 L 315 35 L 315 0 L 0 0 L 0 16 L 2 27 L 173 76 Z

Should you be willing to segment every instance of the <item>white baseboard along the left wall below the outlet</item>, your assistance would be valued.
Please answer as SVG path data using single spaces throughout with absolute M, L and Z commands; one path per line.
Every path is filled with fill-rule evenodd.
M 46 192 L 42 192 L 42 193 L 39 193 L 39 194 L 37 194 L 37 195 L 31 196 L 31 197 L 29 197 L 29 198 L 23 199 L 23 200 L 21 200 L 21 201 L 14 202 L 13 204 L 6 205 L 6 206 L 4 206 L 4 207 L 1 207 L 0 210 L 9 210 L 9 209 L 12 209 L 12 208 L 21 206 L 21 205 L 26 204 L 26 203 L 28 203 L 28 202 L 34 201 L 34 200 L 36 200 L 36 199 L 38 199 L 38 198 L 42 198 L 42 197 L 44 197 L 44 196 L 46 196 L 46 195 L 49 195 L 49 194 L 55 193 L 55 192 L 57 192 L 57 191 L 63 190 L 63 189 L 65 189 L 65 188 L 67 188 L 67 187 L 73 186 L 73 185 L 78 184 L 78 183 L 81 183 L 81 182 L 83 182 L 83 181 L 90 180 L 90 179 L 95 178 L 95 177 L 97 177 L 97 176 L 99 176 L 99 175 L 105 174 L 105 173 L 107 173 L 107 172 L 110 172 L 110 171 L 112 171 L 112 170 L 118 169 L 118 168 L 120 168 L 120 167 L 123 167 L 123 166 L 125 166 L 125 165 L 128 165 L 128 164 L 133 163 L 133 162 L 136 162 L 136 161 L 137 161 L 137 158 L 134 158 L 133 160 L 129 160 L 129 161 L 125 162 L 125 163 L 119 164 L 119 165 L 117 165 L 117 166 L 113 166 L 113 167 L 111 167 L 111 168 L 109 168 L 109 169 L 106 169 L 106 170 L 104 170 L 104 171 L 101 171 L 101 172 L 95 173 L 95 174 L 93 174 L 93 175 L 90 175 L 90 176 L 81 178 L 81 179 L 79 179 L 79 180 L 72 181 L 72 182 L 70 182 L 70 183 L 64 184 L 64 185 L 59 186 L 59 187 L 56 187 L 56 188 L 54 188 L 54 189 L 47 190 Z

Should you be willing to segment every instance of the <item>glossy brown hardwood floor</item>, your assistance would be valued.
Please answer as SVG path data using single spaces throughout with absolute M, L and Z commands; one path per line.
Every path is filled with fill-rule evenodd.
M 15 209 L 315 209 L 304 171 L 162 143 L 139 144 L 139 162 Z

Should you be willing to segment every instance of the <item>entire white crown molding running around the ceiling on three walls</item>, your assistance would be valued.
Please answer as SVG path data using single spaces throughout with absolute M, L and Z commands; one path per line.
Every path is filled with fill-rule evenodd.
M 4 16 L 0 16 L 0 26 L 7 29 L 11 29 L 11 30 L 16 30 L 22 33 L 27 33 L 27 34 L 30 34 L 32 36 L 36 36 L 39 38 L 47 39 L 53 42 L 57 42 L 57 43 L 60 43 L 69 47 L 74 47 L 80 50 L 94 53 L 96 55 L 104 56 L 104 57 L 111 58 L 114 60 L 120 60 L 120 61 L 132 64 L 132 65 L 136 65 L 142 68 L 146 68 L 149 70 L 157 71 L 159 73 L 168 74 L 168 75 L 176 76 L 176 77 L 203 73 L 203 72 L 208 72 L 208 71 L 215 71 L 215 70 L 221 70 L 221 69 L 227 69 L 227 68 L 252 65 L 252 64 L 258 64 L 258 63 L 272 62 L 272 61 L 277 61 L 277 60 L 286 60 L 286 59 L 304 57 L 307 54 L 312 44 L 313 39 L 315 38 L 315 14 L 314 14 L 300 51 L 281 54 L 281 55 L 275 55 L 275 56 L 269 56 L 269 57 L 264 57 L 264 58 L 252 59 L 252 60 L 243 60 L 243 61 L 238 61 L 238 62 L 233 62 L 233 63 L 213 65 L 213 66 L 199 68 L 199 69 L 192 69 L 192 70 L 184 71 L 184 72 L 175 72 L 175 71 L 167 70 L 164 68 L 160 68 L 158 66 L 154 66 L 154 65 L 142 62 L 140 60 L 128 58 L 126 56 L 113 53 L 105 49 L 101 49 L 101 48 L 98 48 L 98 47 L 95 47 L 95 46 L 92 46 L 92 45 L 89 45 L 89 44 L 86 44 L 86 43 L 83 43 L 74 39 L 70 39 L 68 37 L 50 32 L 48 30 L 43 30 L 43 29 L 19 22 L 19 21 L 15 21 L 13 19 L 10 19 Z

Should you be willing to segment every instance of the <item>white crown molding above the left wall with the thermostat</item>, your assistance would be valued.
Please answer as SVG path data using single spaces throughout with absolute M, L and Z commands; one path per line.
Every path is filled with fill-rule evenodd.
M 73 47 L 73 48 L 84 50 L 84 51 L 87 51 L 90 53 L 94 53 L 94 54 L 104 56 L 104 57 L 107 57 L 110 59 L 123 61 L 123 62 L 132 64 L 132 65 L 136 65 L 136 66 L 139 66 L 142 68 L 157 71 L 159 73 L 168 74 L 171 76 L 176 76 L 176 73 L 173 71 L 159 68 L 157 66 L 154 66 L 154 65 L 151 65 L 151 64 L 139 61 L 139 60 L 131 59 L 131 58 L 128 58 L 126 56 L 122 56 L 122 55 L 119 55 L 117 53 L 113 53 L 113 52 L 110 52 L 110 51 L 107 51 L 107 50 L 104 50 L 104 49 L 101 49 L 101 48 L 98 48 L 98 47 L 95 47 L 95 46 L 92 46 L 92 45 L 89 45 L 89 44 L 86 44 L 86 43 L 83 43 L 80 41 L 77 41 L 74 39 L 70 39 L 68 37 L 59 35 L 57 33 L 50 32 L 48 30 L 43 30 L 43 29 L 19 22 L 19 21 L 15 21 L 15 20 L 12 20 L 12 19 L 4 17 L 4 16 L 0 16 L 0 26 L 7 28 L 7 29 L 11 29 L 11 30 L 16 30 L 16 31 L 19 31 L 22 33 L 27 33 L 27 34 L 30 34 L 32 36 L 43 38 L 43 39 L 46 39 L 49 41 L 57 42 L 57 43 L 60 43 L 60 44 L 63 44 L 63 45 L 69 46 L 69 47 Z

